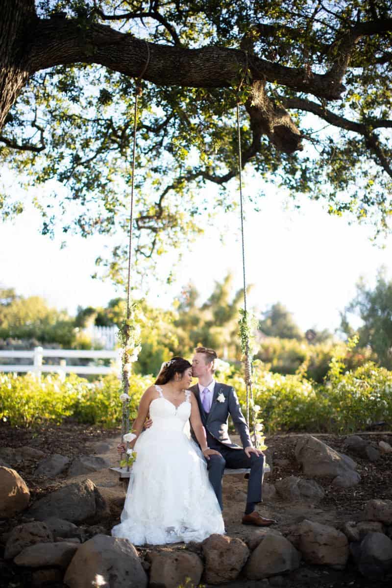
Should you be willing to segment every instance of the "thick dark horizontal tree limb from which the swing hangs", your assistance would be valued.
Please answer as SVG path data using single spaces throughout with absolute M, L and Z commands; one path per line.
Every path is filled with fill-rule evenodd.
M 304 79 L 301 69 L 274 64 L 252 56 L 249 61 L 240 49 L 206 46 L 186 49 L 149 43 L 150 60 L 144 78 L 158 85 L 193 88 L 227 88 L 241 68 L 249 65 L 253 79 L 280 83 L 327 100 L 340 97 L 344 86 L 324 75 Z M 137 77 L 147 59 L 146 41 L 123 34 L 109 26 L 89 24 L 81 34 L 81 25 L 71 19 L 37 22 L 29 49 L 31 73 L 55 65 L 77 62 L 104 65 L 122 74 Z

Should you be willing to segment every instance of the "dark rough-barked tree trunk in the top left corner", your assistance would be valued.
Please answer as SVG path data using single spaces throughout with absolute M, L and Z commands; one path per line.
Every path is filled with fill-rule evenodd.
M 26 60 L 28 30 L 36 21 L 33 0 L 2 0 L 0 17 L 0 129 L 31 72 Z

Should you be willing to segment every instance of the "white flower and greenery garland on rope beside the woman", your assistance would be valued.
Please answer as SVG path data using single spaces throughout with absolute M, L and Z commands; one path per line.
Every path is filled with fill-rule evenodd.
M 140 345 L 141 328 L 139 311 L 138 303 L 132 302 L 129 306 L 129 316 L 123 321 L 118 333 L 119 344 L 122 348 L 122 387 L 120 390 L 120 400 L 122 402 L 121 441 L 127 443 L 126 457 L 120 460 L 120 467 L 126 467 L 127 471 L 129 471 L 129 468 L 136 459 L 136 452 L 128 446 L 136 438 L 136 435 L 132 431 L 129 431 L 129 419 L 131 417 L 133 420 L 136 417 L 133 413 L 132 415 L 129 413 L 129 378 L 132 372 L 132 363 L 138 360 L 138 355 L 142 349 Z

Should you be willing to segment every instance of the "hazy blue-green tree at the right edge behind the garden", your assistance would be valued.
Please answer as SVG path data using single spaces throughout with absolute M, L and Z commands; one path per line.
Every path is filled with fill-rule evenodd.
M 359 346 L 369 345 L 377 353 L 379 363 L 392 368 L 392 280 L 388 280 L 386 270 L 378 270 L 376 286 L 372 289 L 360 279 L 357 283 L 356 297 L 351 300 L 346 312 L 356 313 L 363 320 L 357 329 Z M 346 312 L 343 313 L 341 328 L 351 336 L 353 328 Z

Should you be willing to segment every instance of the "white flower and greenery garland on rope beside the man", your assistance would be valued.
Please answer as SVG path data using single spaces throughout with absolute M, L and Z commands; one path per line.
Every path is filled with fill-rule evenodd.
M 257 449 L 267 449 L 265 444 L 265 435 L 264 435 L 264 424 L 263 419 L 260 418 L 260 406 L 254 403 L 253 397 L 253 388 L 254 382 L 252 382 L 252 373 L 253 373 L 253 356 L 254 356 L 254 349 L 255 349 L 255 340 L 254 340 L 254 333 L 256 333 L 257 327 L 259 326 L 259 322 L 254 316 L 253 313 L 249 313 L 244 309 L 240 309 L 240 318 L 239 318 L 239 336 L 240 336 L 240 345 L 241 350 L 243 353 L 243 362 L 244 362 L 244 369 L 245 369 L 245 386 L 246 386 L 246 421 L 247 425 L 250 429 L 250 422 L 249 422 L 249 408 L 252 410 L 252 425 L 253 425 L 253 442 L 254 446 Z M 250 398 L 249 398 L 249 390 L 250 390 Z

